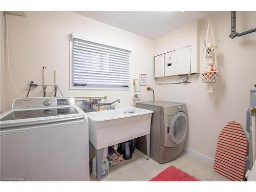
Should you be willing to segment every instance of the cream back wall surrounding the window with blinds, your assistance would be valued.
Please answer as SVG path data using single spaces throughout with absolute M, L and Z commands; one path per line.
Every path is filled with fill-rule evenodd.
M 24 97 L 29 88 L 28 79 L 42 84 L 42 67 L 46 66 L 47 83 L 53 84 L 54 70 L 57 70 L 58 86 L 65 96 L 108 96 L 107 102 L 120 98 L 119 106 L 134 105 L 134 86 L 131 86 L 130 91 L 69 90 L 69 33 L 72 31 L 131 47 L 131 81 L 138 78 L 139 73 L 146 73 L 148 84 L 155 85 L 153 41 L 150 39 L 73 12 L 27 12 L 26 17 L 8 15 L 8 28 L 11 73 L 19 94 Z M 18 96 L 7 75 L 6 82 L 5 109 L 10 109 L 12 100 Z M 141 91 L 142 100 L 152 99 L 152 94 L 146 91 L 145 86 L 141 87 Z M 53 88 L 49 88 L 47 96 L 53 94 Z M 32 88 L 29 96 L 42 96 L 42 88 Z

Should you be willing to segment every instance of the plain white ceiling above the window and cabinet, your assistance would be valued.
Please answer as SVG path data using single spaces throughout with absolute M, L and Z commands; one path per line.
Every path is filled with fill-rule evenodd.
M 157 39 L 195 19 L 207 17 L 207 11 L 74 11 L 102 23 Z

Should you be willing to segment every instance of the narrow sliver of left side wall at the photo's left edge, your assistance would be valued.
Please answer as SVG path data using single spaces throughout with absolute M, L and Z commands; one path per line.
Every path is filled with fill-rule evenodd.
M 0 89 L 0 114 L 7 110 L 4 100 L 5 94 L 5 16 L 0 13 L 0 79 L 1 79 L 1 89 Z

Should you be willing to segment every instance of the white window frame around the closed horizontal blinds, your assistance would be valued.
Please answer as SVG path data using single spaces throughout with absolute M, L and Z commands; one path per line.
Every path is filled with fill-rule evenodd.
M 130 72 L 130 84 L 129 87 L 123 87 L 123 88 L 111 88 L 110 86 L 105 86 L 103 87 L 103 85 L 98 85 L 99 87 L 82 87 L 82 86 L 74 86 L 74 81 L 73 81 L 73 39 L 72 39 L 72 35 L 75 34 L 76 36 L 79 36 L 79 38 L 81 40 L 86 40 L 86 41 L 90 41 L 90 42 L 94 42 L 96 44 L 102 44 L 105 46 L 110 46 L 110 47 L 114 47 L 114 48 L 119 48 L 119 49 L 123 49 L 123 50 L 127 50 L 130 51 L 130 65 L 129 65 L 129 72 Z M 82 33 L 76 33 L 76 32 L 72 32 L 69 35 L 70 39 L 69 39 L 69 83 L 70 83 L 70 90 L 127 90 L 130 91 L 131 90 L 131 85 L 132 85 L 132 81 L 131 81 L 131 55 L 132 55 L 132 48 L 131 47 L 123 47 L 123 46 L 119 46 L 119 45 L 115 45 L 112 42 L 109 41 L 105 41 L 99 38 L 95 38 L 86 34 L 82 34 Z M 102 86 L 102 87 L 101 87 Z

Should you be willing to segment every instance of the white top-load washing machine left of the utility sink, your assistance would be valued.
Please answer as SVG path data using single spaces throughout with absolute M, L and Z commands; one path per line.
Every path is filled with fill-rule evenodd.
M 74 98 L 18 98 L 0 116 L 2 181 L 89 181 L 88 118 Z

